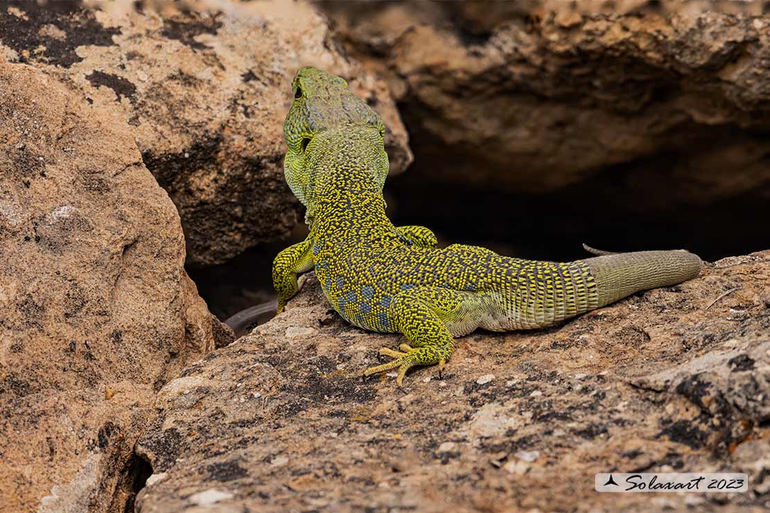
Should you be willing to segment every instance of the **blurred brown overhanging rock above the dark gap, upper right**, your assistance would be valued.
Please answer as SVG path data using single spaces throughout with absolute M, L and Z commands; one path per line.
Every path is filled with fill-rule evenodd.
M 751 12 L 703 10 L 715 3 Z M 551 192 L 609 170 L 592 198 L 648 211 L 770 197 L 760 4 L 323 5 L 352 55 L 388 77 L 416 172 Z

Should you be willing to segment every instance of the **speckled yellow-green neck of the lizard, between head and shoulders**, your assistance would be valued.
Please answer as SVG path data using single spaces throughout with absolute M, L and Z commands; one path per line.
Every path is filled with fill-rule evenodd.
M 376 129 L 346 125 L 323 132 L 312 151 L 314 235 L 365 238 L 392 228 L 382 195 L 387 154 Z

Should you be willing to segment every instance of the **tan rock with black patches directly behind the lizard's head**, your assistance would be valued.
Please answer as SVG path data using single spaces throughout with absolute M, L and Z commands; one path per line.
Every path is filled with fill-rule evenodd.
M 385 83 L 341 54 L 304 3 L 199 2 L 219 8 L 163 15 L 136 12 L 135 2 L 74 3 L 2 7 L 0 60 L 41 68 L 132 126 L 179 209 L 191 265 L 225 261 L 295 225 L 283 118 L 300 65 L 353 79 L 387 123 L 392 172 L 411 162 Z

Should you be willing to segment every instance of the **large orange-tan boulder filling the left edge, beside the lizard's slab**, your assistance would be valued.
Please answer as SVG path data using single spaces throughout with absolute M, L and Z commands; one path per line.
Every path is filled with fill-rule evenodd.
M 228 334 L 132 132 L 0 64 L 0 511 L 122 511 L 156 389 Z

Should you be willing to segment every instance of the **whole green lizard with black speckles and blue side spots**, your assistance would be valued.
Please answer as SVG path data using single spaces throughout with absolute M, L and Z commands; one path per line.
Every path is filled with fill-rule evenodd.
M 364 375 L 449 360 L 454 338 L 476 328 L 542 328 L 635 291 L 694 278 L 688 252 L 635 252 L 571 262 L 531 261 L 486 248 L 450 245 L 420 226 L 396 228 L 385 215 L 388 172 L 380 117 L 343 78 L 301 68 L 286 116 L 284 169 L 307 208 L 310 235 L 273 262 L 278 312 L 296 275 L 315 269 L 326 298 L 359 328 L 400 332 L 409 345 L 380 349 L 393 358 Z

